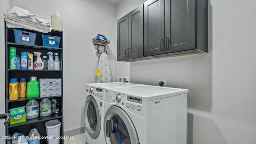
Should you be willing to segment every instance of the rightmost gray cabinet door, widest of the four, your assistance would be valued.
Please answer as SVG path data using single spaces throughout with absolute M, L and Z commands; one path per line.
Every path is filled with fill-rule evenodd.
M 165 51 L 196 48 L 195 0 L 165 0 Z

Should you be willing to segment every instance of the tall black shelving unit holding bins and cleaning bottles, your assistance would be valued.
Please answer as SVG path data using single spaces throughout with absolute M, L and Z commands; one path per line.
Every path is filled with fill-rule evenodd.
M 33 30 L 27 30 L 23 28 L 15 28 L 17 30 L 23 30 L 26 32 L 33 32 L 36 33 L 36 42 L 35 45 L 26 45 L 26 44 L 16 44 L 15 38 L 14 38 L 14 32 L 13 28 L 7 28 L 5 27 L 5 37 L 6 37 L 6 44 L 5 44 L 5 104 L 6 104 L 6 113 L 8 113 L 10 108 L 18 107 L 18 106 L 25 106 L 26 103 L 34 99 L 38 103 L 41 102 L 43 98 L 22 98 L 18 100 L 8 100 L 8 79 L 10 78 L 26 78 L 26 81 L 28 82 L 30 80 L 30 76 L 37 76 L 37 79 L 39 81 L 40 78 L 62 78 L 62 94 L 63 94 L 63 52 L 62 52 L 62 38 L 63 38 L 63 32 L 58 30 L 52 30 L 52 32 L 46 34 L 51 36 L 58 36 L 60 37 L 60 46 L 59 48 L 52 48 L 52 47 L 46 47 L 43 46 L 42 42 L 42 34 L 41 32 L 33 31 Z M 16 69 L 9 69 L 9 48 L 10 47 L 16 47 L 16 52 L 18 55 L 21 54 L 21 52 L 41 52 L 42 56 L 45 56 L 47 52 L 58 52 L 59 54 L 59 60 L 60 60 L 60 70 L 16 70 Z M 26 119 L 26 122 L 18 123 L 18 124 L 12 124 L 6 126 L 6 135 L 12 135 L 14 131 L 18 130 L 19 133 L 23 133 L 25 136 L 28 136 L 31 128 L 33 126 L 36 126 L 36 129 L 40 133 L 40 136 L 46 136 L 46 126 L 45 122 L 48 120 L 54 120 L 58 119 L 61 122 L 61 130 L 60 130 L 60 136 L 64 136 L 64 130 L 63 130 L 63 95 L 61 96 L 50 96 L 47 97 L 50 100 L 52 98 L 60 98 L 60 113 L 50 116 L 44 116 L 33 119 Z M 6 143 L 8 143 L 8 140 L 6 140 Z M 47 139 L 41 139 L 40 143 L 47 144 Z M 64 140 L 60 140 L 60 143 L 64 143 Z

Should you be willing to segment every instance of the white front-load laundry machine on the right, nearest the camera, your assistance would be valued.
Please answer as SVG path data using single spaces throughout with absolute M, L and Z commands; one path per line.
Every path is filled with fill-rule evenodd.
M 187 89 L 107 88 L 106 144 L 186 144 Z

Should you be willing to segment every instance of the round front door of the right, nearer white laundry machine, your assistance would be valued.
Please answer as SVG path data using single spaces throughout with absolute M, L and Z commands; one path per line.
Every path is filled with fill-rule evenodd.
M 118 106 L 110 107 L 104 117 L 106 144 L 139 144 L 138 134 L 129 116 Z

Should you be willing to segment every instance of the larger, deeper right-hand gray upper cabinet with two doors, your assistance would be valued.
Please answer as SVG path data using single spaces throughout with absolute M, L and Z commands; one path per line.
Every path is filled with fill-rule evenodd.
M 144 3 L 144 56 L 208 52 L 207 0 Z

